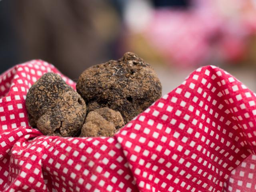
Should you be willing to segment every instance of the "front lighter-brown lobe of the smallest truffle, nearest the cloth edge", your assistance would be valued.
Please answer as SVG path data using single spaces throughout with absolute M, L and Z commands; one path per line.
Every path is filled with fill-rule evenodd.
M 88 113 L 82 126 L 80 137 L 113 136 L 115 133 L 114 123 L 107 121 L 97 112 Z

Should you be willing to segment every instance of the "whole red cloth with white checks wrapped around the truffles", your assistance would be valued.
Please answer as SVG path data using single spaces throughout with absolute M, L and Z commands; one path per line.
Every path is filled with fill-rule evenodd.
M 1 191 L 256 191 L 256 96 L 220 68 L 194 71 L 112 138 L 31 128 L 26 93 L 46 72 L 60 74 L 33 60 L 0 76 Z

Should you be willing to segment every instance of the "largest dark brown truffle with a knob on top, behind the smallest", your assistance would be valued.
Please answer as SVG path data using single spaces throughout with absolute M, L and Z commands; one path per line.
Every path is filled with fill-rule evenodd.
M 118 61 L 85 70 L 76 84 L 87 111 L 108 107 L 119 111 L 127 123 L 162 95 L 162 85 L 152 66 L 127 52 Z

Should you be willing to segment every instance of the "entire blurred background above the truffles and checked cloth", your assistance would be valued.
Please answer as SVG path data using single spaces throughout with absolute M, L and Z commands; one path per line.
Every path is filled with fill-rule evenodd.
M 210 64 L 256 91 L 256 0 L 0 0 L 0 73 L 42 59 L 77 80 L 127 51 L 163 94 Z

